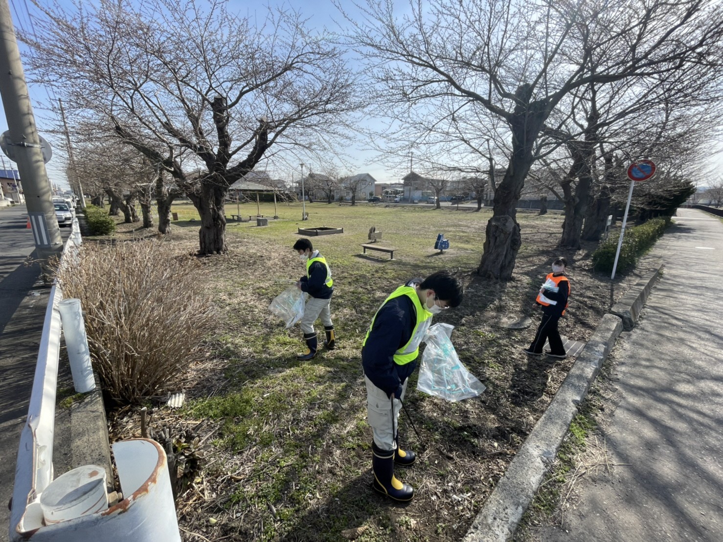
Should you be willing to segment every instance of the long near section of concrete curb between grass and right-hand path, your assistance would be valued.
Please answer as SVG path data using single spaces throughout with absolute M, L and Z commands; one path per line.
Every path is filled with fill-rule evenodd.
M 578 405 L 622 330 L 620 317 L 612 314 L 602 317 L 552 403 L 497 482 L 463 542 L 504 542 L 513 535 L 547 473 L 547 465 L 555 460 L 570 422 L 578 413 Z

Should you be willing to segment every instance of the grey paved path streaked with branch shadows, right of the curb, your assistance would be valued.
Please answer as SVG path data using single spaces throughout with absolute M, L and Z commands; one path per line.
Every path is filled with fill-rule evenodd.
M 581 483 L 568 532 L 542 541 L 723 541 L 723 223 L 678 215 L 654 249 L 664 275 L 619 340 L 605 428 L 619 466 Z

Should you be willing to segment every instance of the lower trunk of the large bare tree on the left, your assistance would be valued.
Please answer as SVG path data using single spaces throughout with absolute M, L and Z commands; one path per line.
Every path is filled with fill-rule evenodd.
M 193 205 L 201 216 L 198 231 L 198 254 L 223 254 L 226 252 L 226 217 L 223 216 L 223 199 L 228 188 L 222 182 L 216 184 L 213 178 L 202 181 L 201 194 L 189 194 Z

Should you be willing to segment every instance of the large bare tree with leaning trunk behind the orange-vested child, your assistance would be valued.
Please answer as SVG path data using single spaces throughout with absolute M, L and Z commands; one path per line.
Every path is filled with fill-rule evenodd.
M 395 8 L 369 0 L 363 19 L 348 20 L 353 43 L 371 61 L 375 98 L 395 113 L 408 141 L 482 147 L 486 117 L 501 120 L 511 141 L 478 269 L 488 278 L 512 277 L 521 246 L 515 207 L 539 134 L 563 98 L 591 83 L 720 59 L 714 1 L 411 1 L 399 17 Z M 595 72 L 586 61 L 591 51 Z M 415 119 L 406 123 L 408 111 Z

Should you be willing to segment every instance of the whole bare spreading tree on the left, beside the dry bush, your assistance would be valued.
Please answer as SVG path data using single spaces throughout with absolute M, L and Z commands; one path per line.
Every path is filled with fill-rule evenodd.
M 343 142 L 354 79 L 293 9 L 240 17 L 222 2 L 36 4 L 31 72 L 76 119 L 102 119 L 187 194 L 199 251 L 226 251 L 228 187 L 262 157 Z M 69 115 L 71 116 L 71 115 Z

